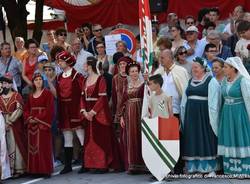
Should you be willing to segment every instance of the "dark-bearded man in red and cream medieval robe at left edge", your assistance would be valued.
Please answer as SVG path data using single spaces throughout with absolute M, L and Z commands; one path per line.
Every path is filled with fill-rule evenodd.
M 12 177 L 19 177 L 26 171 L 26 140 L 22 118 L 23 100 L 13 90 L 13 76 L 6 73 L 3 78 L 3 92 L 0 96 L 0 111 L 4 116 L 6 141 Z

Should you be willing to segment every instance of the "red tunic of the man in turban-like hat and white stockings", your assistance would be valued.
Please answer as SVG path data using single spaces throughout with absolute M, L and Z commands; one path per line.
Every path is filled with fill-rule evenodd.
M 62 130 L 82 128 L 83 117 L 80 113 L 80 99 L 83 76 L 72 69 L 71 76 L 57 79 L 58 127 Z

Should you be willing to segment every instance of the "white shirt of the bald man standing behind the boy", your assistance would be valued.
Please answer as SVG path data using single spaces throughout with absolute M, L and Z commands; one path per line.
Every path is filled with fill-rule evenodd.
M 171 72 L 168 74 L 165 72 L 163 75 L 163 85 L 162 90 L 168 94 L 168 96 L 172 96 L 172 105 L 173 105 L 173 113 L 180 114 L 180 105 L 181 105 L 181 98 L 178 94 L 177 88 L 175 86 L 173 77 Z

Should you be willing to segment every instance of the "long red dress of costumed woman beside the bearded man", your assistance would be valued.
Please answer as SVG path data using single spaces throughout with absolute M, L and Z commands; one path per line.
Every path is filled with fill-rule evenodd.
M 53 172 L 51 124 L 54 115 L 54 97 L 44 89 L 38 98 L 29 96 L 24 117 L 28 127 L 28 173 Z M 35 120 L 31 123 L 30 120 Z

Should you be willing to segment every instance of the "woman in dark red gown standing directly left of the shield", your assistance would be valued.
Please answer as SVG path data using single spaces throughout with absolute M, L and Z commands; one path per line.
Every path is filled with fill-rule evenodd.
M 123 96 L 120 116 L 121 127 L 125 131 L 124 142 L 127 150 L 128 173 L 146 171 L 141 151 L 141 112 L 144 94 L 144 80 L 140 80 L 140 65 L 128 63 L 126 72 L 129 76 L 126 92 Z

